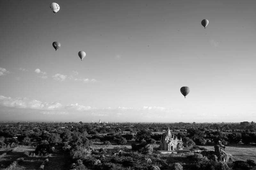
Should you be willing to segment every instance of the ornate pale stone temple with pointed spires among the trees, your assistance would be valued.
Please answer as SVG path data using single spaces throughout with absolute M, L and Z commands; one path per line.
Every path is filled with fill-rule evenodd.
M 160 140 L 160 150 L 162 151 L 176 151 L 183 149 L 183 142 L 177 139 L 177 136 L 171 134 L 170 128 L 168 131 L 161 136 Z

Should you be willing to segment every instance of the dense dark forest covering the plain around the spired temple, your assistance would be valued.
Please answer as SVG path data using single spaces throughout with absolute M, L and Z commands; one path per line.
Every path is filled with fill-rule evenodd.
M 170 128 L 184 151 L 162 154 L 161 135 Z M 255 169 L 254 160 L 212 161 L 200 154 L 204 145 L 252 145 L 256 123 L 46 123 L 0 124 L 0 148 L 33 146 L 25 157 L 49 157 L 60 151 L 66 169 Z M 95 148 L 95 145 L 102 148 Z M 199 145 L 199 146 L 198 146 Z M 112 147 L 108 147 L 112 146 Z M 129 148 L 128 146 L 131 146 Z M 23 158 L 24 159 L 24 158 Z M 17 165 L 16 165 L 17 164 Z M 16 168 L 22 167 L 16 162 Z M 47 164 L 44 162 L 43 164 Z M 44 169 L 44 166 L 41 167 Z

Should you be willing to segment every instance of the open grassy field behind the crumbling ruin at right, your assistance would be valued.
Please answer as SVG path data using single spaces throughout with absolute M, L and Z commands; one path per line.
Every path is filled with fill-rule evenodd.
M 203 146 L 209 151 L 214 151 L 213 146 Z M 226 152 L 231 154 L 234 160 L 246 161 L 247 159 L 252 159 L 256 162 L 256 146 L 226 146 Z

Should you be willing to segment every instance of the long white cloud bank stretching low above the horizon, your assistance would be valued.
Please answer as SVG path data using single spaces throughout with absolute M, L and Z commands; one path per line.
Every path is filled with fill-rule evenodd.
M 88 105 L 82 104 L 69 104 L 62 105 L 59 102 L 42 102 L 40 100 L 30 100 L 28 98 L 20 98 L 20 97 L 5 97 L 0 96 L 0 107 L 3 107 L 5 110 L 9 108 L 22 109 L 20 112 L 33 112 L 46 115 L 67 115 L 71 114 L 74 117 L 80 118 L 81 115 L 89 118 L 100 119 L 100 117 L 109 117 L 113 120 L 116 120 L 116 117 L 123 120 L 133 120 L 139 121 L 144 120 L 143 118 L 152 118 L 152 119 L 167 119 L 170 115 L 177 114 L 177 112 L 172 109 L 166 109 L 164 107 L 158 106 L 144 106 L 141 108 L 132 108 L 132 107 L 92 107 Z M 86 114 L 84 114 L 86 113 Z M 15 113 L 13 113 L 15 114 Z M 140 118 L 140 119 L 132 119 L 132 118 Z

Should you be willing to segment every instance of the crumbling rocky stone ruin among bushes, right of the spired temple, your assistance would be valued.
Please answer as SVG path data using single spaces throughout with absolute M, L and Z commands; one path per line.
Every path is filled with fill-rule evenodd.
M 220 141 L 214 146 L 214 151 L 202 151 L 201 154 L 215 161 L 232 161 L 232 155 L 226 153 L 225 146 Z

